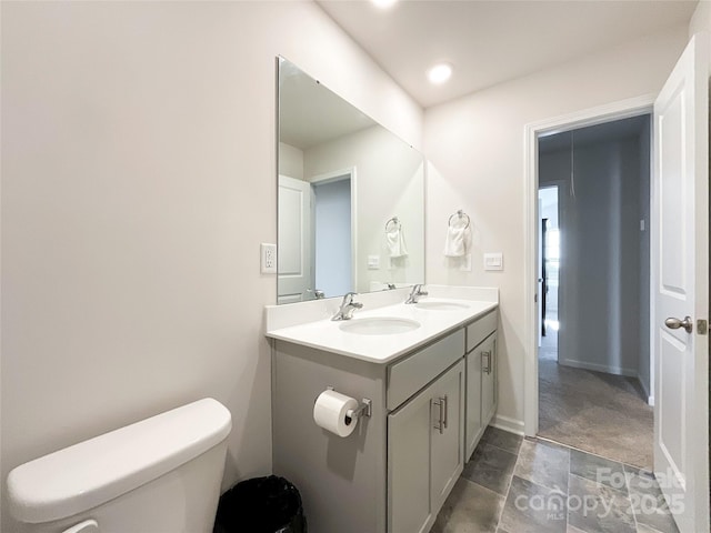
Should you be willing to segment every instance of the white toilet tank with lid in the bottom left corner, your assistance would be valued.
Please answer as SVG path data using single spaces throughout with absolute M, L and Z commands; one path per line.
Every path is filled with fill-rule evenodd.
M 204 399 L 24 463 L 8 475 L 27 533 L 210 533 L 230 412 Z

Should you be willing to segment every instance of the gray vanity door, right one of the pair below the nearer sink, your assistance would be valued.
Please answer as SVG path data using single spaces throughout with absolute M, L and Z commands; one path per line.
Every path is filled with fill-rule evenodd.
M 464 466 L 464 361 L 433 383 L 432 506 L 438 512 Z

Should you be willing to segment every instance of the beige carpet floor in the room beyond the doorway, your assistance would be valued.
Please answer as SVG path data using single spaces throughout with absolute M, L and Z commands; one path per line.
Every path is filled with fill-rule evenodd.
M 639 382 L 559 365 L 555 336 L 540 350 L 539 436 L 651 470 L 653 413 Z

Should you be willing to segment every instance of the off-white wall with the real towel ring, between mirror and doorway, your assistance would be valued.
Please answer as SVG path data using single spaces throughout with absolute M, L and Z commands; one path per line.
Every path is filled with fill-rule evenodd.
M 649 36 L 425 111 L 425 153 L 439 171 L 428 174 L 428 283 L 500 288 L 499 424 L 523 429 L 524 125 L 658 92 L 687 33 Z M 477 227 L 471 272 L 448 269 L 438 245 L 458 208 Z M 503 252 L 503 272 L 483 271 L 484 251 Z

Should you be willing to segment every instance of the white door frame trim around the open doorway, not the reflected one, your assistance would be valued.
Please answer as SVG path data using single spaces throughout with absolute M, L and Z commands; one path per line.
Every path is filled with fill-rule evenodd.
M 539 135 L 561 133 L 564 131 L 597 125 L 613 120 L 629 119 L 653 112 L 657 94 L 644 94 L 637 98 L 620 100 L 605 105 L 589 108 L 581 111 L 544 119 L 525 124 L 523 131 L 523 235 L 524 235 L 524 269 L 523 269 L 523 302 L 524 302 L 524 365 L 523 365 L 523 432 L 527 436 L 538 433 L 539 390 L 538 390 L 538 138 Z M 652 124 L 653 128 L 653 124 Z M 650 135 L 651 138 L 652 135 Z M 652 154 L 653 157 L 653 154 Z M 650 172 L 653 169 L 650 167 Z M 651 199 L 650 199 L 651 201 Z M 650 213 L 652 211 L 650 210 Z M 653 215 L 653 213 L 652 213 Z M 651 294 L 651 282 L 650 282 Z M 654 310 L 650 309 L 651 318 Z M 654 363 L 653 346 L 650 349 L 650 372 Z M 653 383 L 653 374 L 650 382 Z

